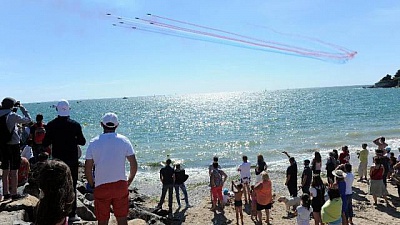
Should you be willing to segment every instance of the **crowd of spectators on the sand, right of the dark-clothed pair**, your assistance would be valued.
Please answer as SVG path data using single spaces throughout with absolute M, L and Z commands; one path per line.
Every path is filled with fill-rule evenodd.
M 372 195 L 374 205 L 378 205 L 378 197 L 385 200 L 386 206 L 390 203 L 387 199 L 387 181 L 397 185 L 400 197 L 400 154 L 396 158 L 394 153 L 385 143 L 384 137 L 379 137 L 373 141 L 376 145 L 375 154 L 372 157 L 372 165 L 368 170 L 369 150 L 367 144 L 361 145 L 361 150 L 356 152 L 358 158 L 358 179 L 357 182 L 367 182 L 369 184 L 368 193 Z M 400 150 L 399 150 L 400 151 Z M 301 176 L 298 176 L 298 166 L 296 159 L 283 151 L 289 159 L 289 166 L 286 170 L 285 186 L 289 193 L 288 202 L 301 202 L 294 207 L 293 215 L 297 218 L 297 224 L 308 225 L 310 218 L 313 218 L 315 225 L 320 224 L 353 224 L 353 166 L 350 162 L 350 152 L 348 146 L 343 146 L 342 151 L 329 152 L 326 162 L 322 159 L 319 152 L 314 152 L 312 160 L 303 161 L 304 168 Z M 232 192 L 234 193 L 234 206 L 236 209 L 237 224 L 243 224 L 242 206 L 243 202 L 251 207 L 251 219 L 262 224 L 262 211 L 265 210 L 265 222 L 270 224 L 269 210 L 274 203 L 272 193 L 272 182 L 267 172 L 267 164 L 262 155 L 258 155 L 255 165 L 256 180 L 251 184 L 251 163 L 247 156 L 242 157 L 243 162 L 238 167 L 240 179 L 232 181 Z M 322 172 L 325 165 L 326 182 L 323 180 Z M 324 173 L 325 173 L 324 171 Z M 369 173 L 368 173 L 369 171 Z M 218 157 L 214 157 L 209 168 L 210 186 L 212 193 L 211 210 L 216 210 L 217 203 L 220 202 L 220 209 L 223 210 L 225 203 L 224 196 L 228 195 L 221 190 L 227 180 L 226 173 L 218 164 Z M 298 182 L 300 181 L 300 182 Z M 301 191 L 301 196 L 298 193 Z M 244 197 L 242 197 L 244 196 Z M 293 206 L 296 206 L 295 204 Z

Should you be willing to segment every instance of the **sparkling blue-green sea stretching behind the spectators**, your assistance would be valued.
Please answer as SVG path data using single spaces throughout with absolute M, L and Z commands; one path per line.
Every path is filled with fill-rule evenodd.
M 131 140 L 136 152 L 139 170 L 133 185 L 155 194 L 161 187 L 159 170 L 167 158 L 185 168 L 190 190 L 207 184 L 214 156 L 229 176 L 238 178 L 236 168 L 242 156 L 255 165 L 262 154 L 272 180 L 285 176 L 289 163 L 282 151 L 296 158 L 299 173 L 302 161 L 311 160 L 315 151 L 326 158 L 344 145 L 356 164 L 361 144 L 367 143 L 372 155 L 376 148 L 372 141 L 380 136 L 386 137 L 397 156 L 399 100 L 399 88 L 352 86 L 69 102 L 71 118 L 82 125 L 87 139 L 81 160 L 90 139 L 102 132 L 102 116 L 114 112 L 120 121 L 117 132 Z M 57 116 L 56 103 L 24 105 L 32 118 L 42 113 L 50 121 Z

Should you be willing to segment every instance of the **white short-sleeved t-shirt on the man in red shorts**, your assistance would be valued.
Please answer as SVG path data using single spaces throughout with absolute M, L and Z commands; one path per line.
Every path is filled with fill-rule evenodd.
M 90 141 L 86 159 L 93 159 L 95 186 L 126 180 L 126 157 L 134 155 L 129 139 L 117 133 L 101 134 Z

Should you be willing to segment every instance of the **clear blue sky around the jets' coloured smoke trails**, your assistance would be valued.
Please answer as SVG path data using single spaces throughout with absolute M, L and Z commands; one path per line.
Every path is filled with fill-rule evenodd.
M 0 98 L 21 102 L 371 85 L 400 69 L 400 1 L 4 0 Z M 113 26 L 166 18 L 302 46 L 356 51 L 346 63 Z M 285 38 L 282 33 L 294 38 Z M 287 37 L 287 36 L 286 36 Z M 220 43 L 218 43 L 220 42 Z M 320 44 L 308 48 L 324 50 Z

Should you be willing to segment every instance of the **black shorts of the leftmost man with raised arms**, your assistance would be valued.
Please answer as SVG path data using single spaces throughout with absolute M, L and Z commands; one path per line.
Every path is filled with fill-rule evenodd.
M 21 165 L 21 152 L 19 144 L 6 145 L 2 149 L 1 169 L 2 170 L 18 170 Z

